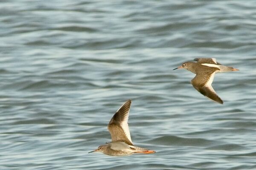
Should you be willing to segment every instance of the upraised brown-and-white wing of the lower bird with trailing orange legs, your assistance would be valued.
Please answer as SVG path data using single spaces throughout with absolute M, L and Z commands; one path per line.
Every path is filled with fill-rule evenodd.
M 133 145 L 131 141 L 130 130 L 128 127 L 128 116 L 131 107 L 131 100 L 123 104 L 114 114 L 108 124 L 108 130 L 111 134 L 112 142 L 124 141 L 129 145 Z

